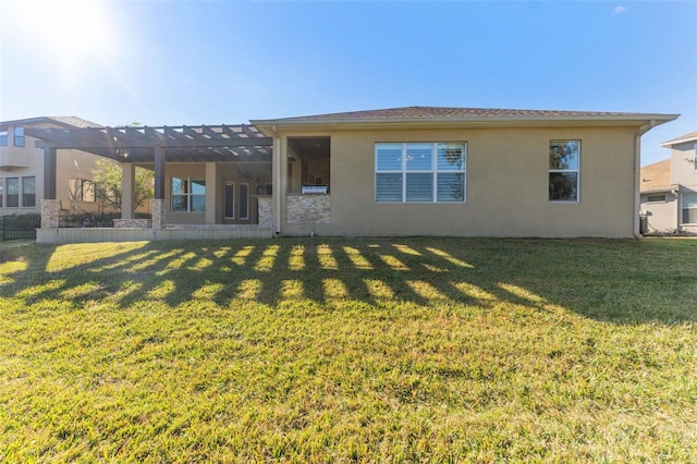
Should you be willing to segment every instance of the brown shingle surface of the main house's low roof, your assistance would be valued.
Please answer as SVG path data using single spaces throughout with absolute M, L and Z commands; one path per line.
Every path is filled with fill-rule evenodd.
M 563 110 L 515 110 L 500 108 L 452 108 L 452 107 L 404 107 L 382 110 L 350 111 L 283 118 L 278 120 L 252 121 L 253 124 L 264 123 L 313 123 L 313 122 L 388 122 L 388 121 L 466 121 L 468 119 L 548 119 L 548 118 L 587 118 L 587 119 L 640 119 L 645 113 L 603 112 L 603 111 L 563 111 Z M 657 114 L 658 115 L 658 114 Z M 665 119 L 674 119 L 675 114 L 660 114 Z

